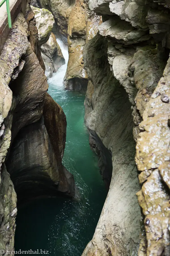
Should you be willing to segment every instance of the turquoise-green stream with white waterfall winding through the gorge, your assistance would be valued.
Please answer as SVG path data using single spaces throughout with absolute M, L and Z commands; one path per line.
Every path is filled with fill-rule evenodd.
M 48 80 L 49 94 L 63 108 L 67 138 L 63 165 L 75 177 L 79 200 L 46 198 L 18 210 L 15 250 L 46 250 L 50 256 L 80 256 L 92 239 L 107 196 L 97 156 L 90 150 L 84 125 L 85 95 L 66 91 L 63 78 L 68 51 L 60 40 L 66 64 Z

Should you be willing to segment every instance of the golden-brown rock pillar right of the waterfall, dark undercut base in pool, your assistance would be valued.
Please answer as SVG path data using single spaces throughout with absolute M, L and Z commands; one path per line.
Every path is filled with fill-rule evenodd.
M 69 62 L 64 79 L 65 89 L 86 91 L 88 75 L 84 69 L 83 48 L 97 33 L 100 17 L 88 9 L 88 3 L 76 0 L 68 21 Z

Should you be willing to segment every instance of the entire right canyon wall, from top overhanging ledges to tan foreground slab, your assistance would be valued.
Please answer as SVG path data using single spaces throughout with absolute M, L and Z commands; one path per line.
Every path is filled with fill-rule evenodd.
M 103 23 L 84 48 L 85 121 L 111 183 L 83 256 L 170 253 L 169 7 L 168 1 L 89 0 Z M 111 157 L 112 177 L 105 168 Z

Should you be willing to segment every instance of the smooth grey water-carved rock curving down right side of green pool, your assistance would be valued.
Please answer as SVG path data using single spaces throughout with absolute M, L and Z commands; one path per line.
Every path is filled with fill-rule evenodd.
M 135 195 L 139 181 L 131 104 L 128 93 L 109 68 L 107 40 L 101 35 L 90 40 L 84 49 L 84 60 L 90 79 L 85 100 L 86 126 L 110 189 L 94 237 L 82 255 L 137 255 L 141 213 Z

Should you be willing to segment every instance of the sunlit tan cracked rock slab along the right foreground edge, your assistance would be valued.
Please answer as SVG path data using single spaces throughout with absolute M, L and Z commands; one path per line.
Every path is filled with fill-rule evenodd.
M 143 113 L 136 145 L 136 163 L 139 181 L 143 184 L 137 193 L 138 201 L 145 215 L 146 239 L 141 239 L 141 251 L 146 255 L 169 255 L 169 141 L 168 126 L 169 101 L 162 101 L 162 96 L 169 99 L 170 60 L 165 67 L 163 77 L 154 90 Z M 154 113 L 149 116 L 148 113 Z M 147 244 L 146 244 L 147 243 Z M 143 255 L 139 251 L 139 255 Z M 159 252 L 159 254 L 158 254 Z M 144 254 L 145 255 L 145 254 Z

